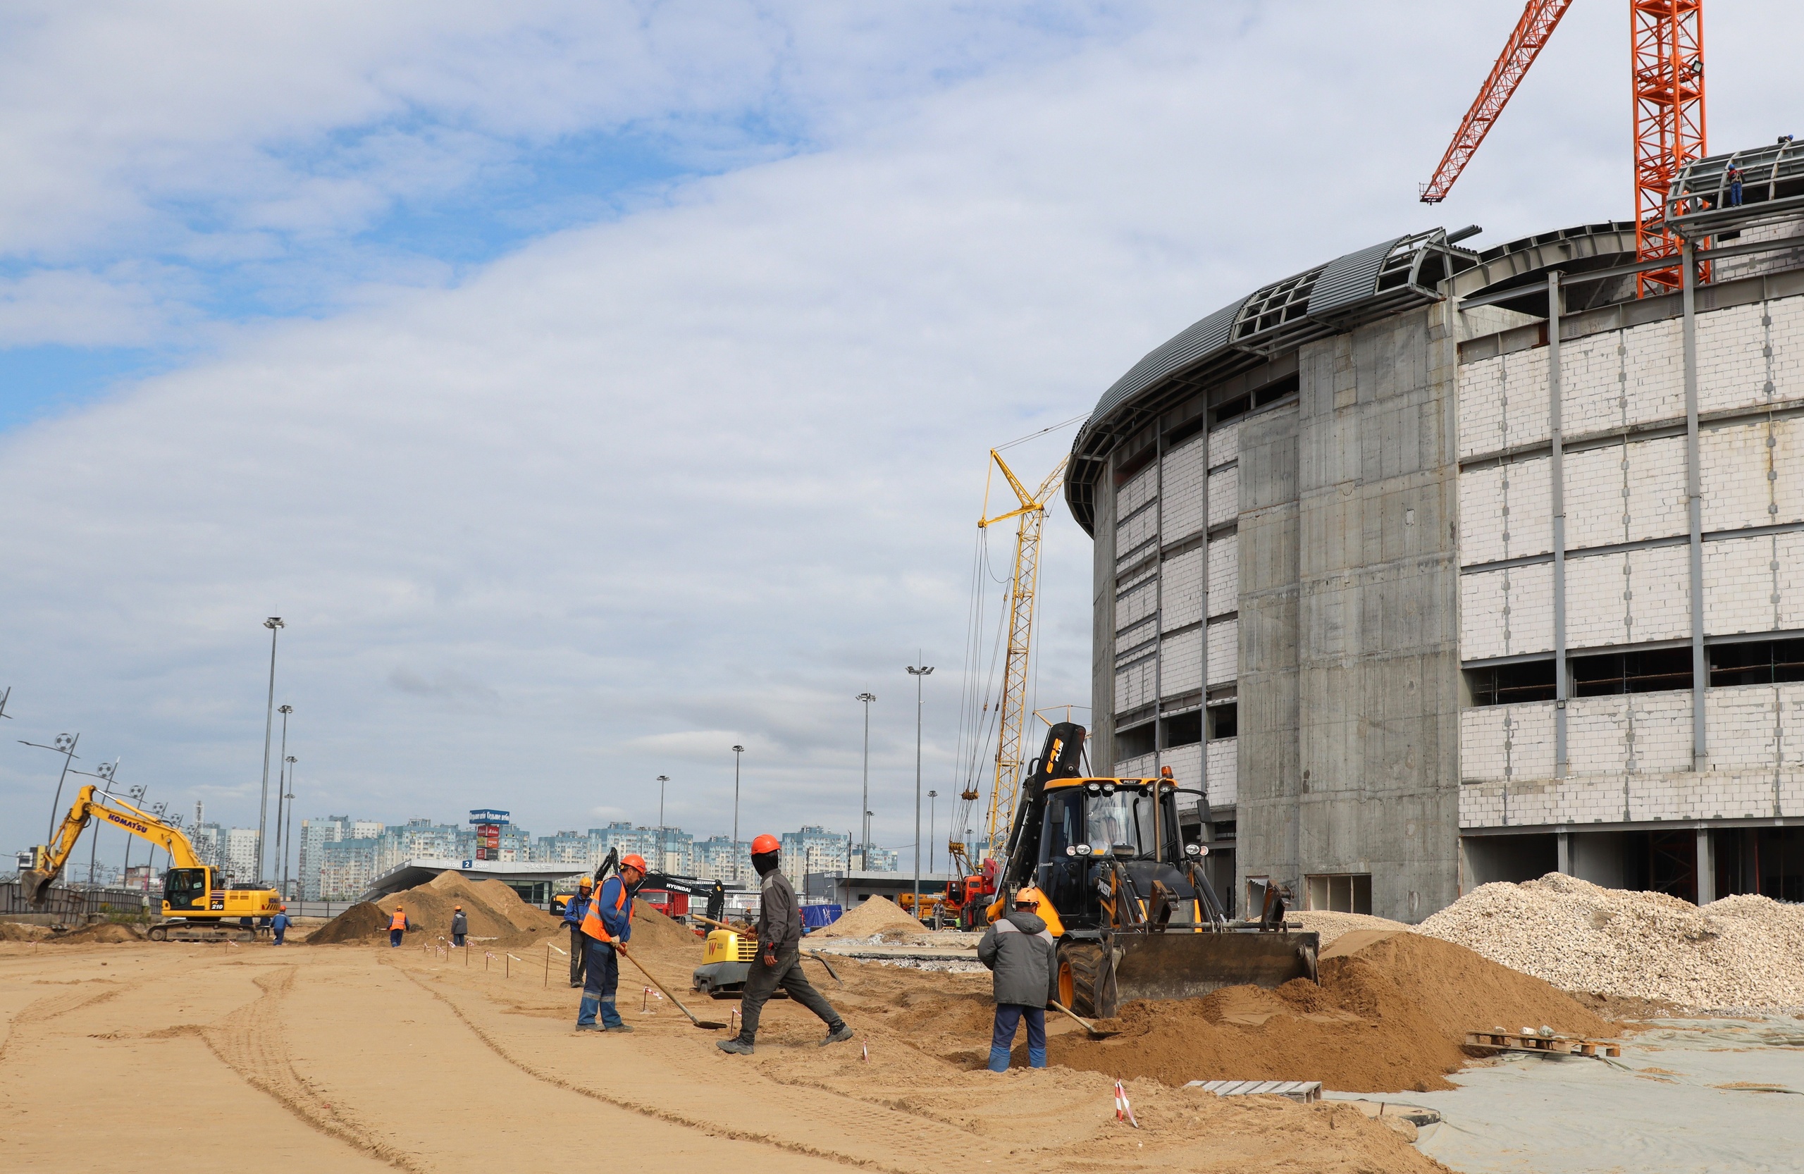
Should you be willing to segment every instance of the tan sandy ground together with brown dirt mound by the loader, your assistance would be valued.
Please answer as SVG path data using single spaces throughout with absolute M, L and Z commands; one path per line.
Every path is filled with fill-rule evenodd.
M 1468 1060 L 1454 1028 L 1474 1015 L 1611 1030 L 1461 947 L 1355 931 L 1328 950 L 1321 990 L 1129 1004 L 1106 1042 L 1050 1024 L 1045 1071 L 1025 1055 L 1005 1075 L 983 1071 L 987 976 L 853 959 L 833 963 L 842 986 L 810 967 L 853 1041 L 819 1048 L 819 1023 L 774 1003 L 756 1055 L 729 1057 L 714 1048 L 722 1033 L 693 1028 L 631 967 L 621 1008 L 637 1030 L 575 1033 L 556 934 L 456 950 L 420 929 L 395 950 L 381 934 L 310 949 L 0 943 L 0 1060 L 32 1073 L 0 1105 L 0 1154 L 13 1169 L 159 1169 L 171 1154 L 171 1170 L 224 1170 L 258 1152 L 289 1170 L 476 1170 L 563 1165 L 561 1122 L 583 1120 L 613 1151 L 660 1154 L 658 1169 L 1436 1170 L 1353 1105 L 1182 1086 L 1447 1087 Z M 700 938 L 640 905 L 633 945 L 687 1001 Z M 1115 1120 L 1115 1077 L 1138 1129 Z M 96 1086 L 179 1087 L 184 1109 L 130 1131 L 69 1129 L 69 1104 Z

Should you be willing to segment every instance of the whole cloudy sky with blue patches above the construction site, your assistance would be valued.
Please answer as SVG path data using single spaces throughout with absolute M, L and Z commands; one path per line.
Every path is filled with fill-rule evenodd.
M 1629 211 L 1624 14 L 1575 5 L 1438 209 L 1485 5 L 13 5 L 7 723 L 254 822 L 265 615 L 301 813 L 853 826 L 956 786 L 985 451 L 1393 234 Z M 1714 9 L 1712 141 L 1797 130 Z M 1014 451 L 1050 469 L 1068 435 Z M 1048 528 L 1041 703 L 1088 703 Z M 0 748 L 0 828 L 41 826 Z M 23 844 L 25 835 L 14 833 Z M 9 849 L 20 844 L 5 842 Z

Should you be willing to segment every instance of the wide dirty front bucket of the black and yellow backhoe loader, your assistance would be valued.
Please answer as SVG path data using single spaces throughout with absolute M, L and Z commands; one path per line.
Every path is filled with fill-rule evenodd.
M 1115 1006 L 1097 1006 L 1099 1017 L 1115 1015 L 1135 999 L 1200 999 L 1221 986 L 1283 986 L 1290 979 L 1315 979 L 1321 934 L 1315 932 L 1126 932 L 1113 934 L 1115 981 L 1100 983 Z

